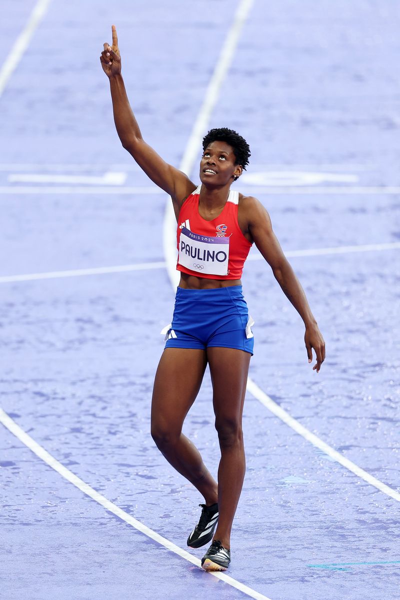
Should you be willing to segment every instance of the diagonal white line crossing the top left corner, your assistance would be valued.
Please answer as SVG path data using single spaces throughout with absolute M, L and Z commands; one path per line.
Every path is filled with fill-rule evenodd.
M 35 4 L 34 10 L 32 10 L 31 16 L 28 19 L 28 23 L 26 23 L 25 28 L 17 37 L 14 46 L 8 53 L 8 56 L 2 61 L 2 68 L 0 70 L 0 97 L 4 92 L 8 80 L 19 65 L 23 53 L 28 48 L 35 29 L 38 27 L 44 15 L 46 14 L 49 4 L 50 0 L 38 0 L 37 4 Z

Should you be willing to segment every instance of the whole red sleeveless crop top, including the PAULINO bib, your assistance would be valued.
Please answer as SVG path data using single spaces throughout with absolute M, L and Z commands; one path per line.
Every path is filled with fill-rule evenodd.
M 181 206 L 176 233 L 178 271 L 206 279 L 240 279 L 251 243 L 237 222 L 239 192 L 230 191 L 219 217 L 199 214 L 199 187 Z

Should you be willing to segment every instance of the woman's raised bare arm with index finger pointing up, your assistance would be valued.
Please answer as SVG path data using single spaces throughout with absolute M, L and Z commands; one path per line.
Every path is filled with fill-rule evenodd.
M 143 140 L 142 133 L 131 109 L 124 80 L 121 74 L 121 55 L 115 26 L 112 26 L 113 46 L 104 44 L 100 61 L 104 73 L 110 80 L 115 127 L 122 146 L 136 160 L 148 177 L 172 197 L 175 214 L 182 202 L 196 190 L 196 185 L 187 175 L 166 163 L 148 143 Z

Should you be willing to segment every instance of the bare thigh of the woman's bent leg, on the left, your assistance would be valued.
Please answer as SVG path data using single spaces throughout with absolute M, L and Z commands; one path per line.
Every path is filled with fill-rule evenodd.
M 151 406 L 152 433 L 181 433 L 196 400 L 207 366 L 205 350 L 167 348 L 155 376 Z

